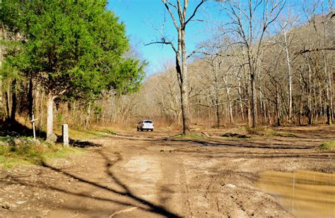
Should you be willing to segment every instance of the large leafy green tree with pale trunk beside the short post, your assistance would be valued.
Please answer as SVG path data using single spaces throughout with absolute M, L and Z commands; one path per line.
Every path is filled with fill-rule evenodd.
M 33 0 L 5 2 L 20 13 L 8 25 L 20 32 L 20 49 L 8 51 L 8 62 L 29 72 L 48 93 L 47 138 L 52 134 L 57 97 L 96 98 L 102 90 L 138 89 L 143 66 L 124 58 L 129 49 L 125 28 L 105 0 Z M 2 16 L 3 13 L 1 13 Z

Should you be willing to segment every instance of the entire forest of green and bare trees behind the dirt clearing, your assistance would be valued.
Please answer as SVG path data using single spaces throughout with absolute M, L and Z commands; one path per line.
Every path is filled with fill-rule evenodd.
M 34 114 L 47 134 L 53 122 L 90 128 L 134 126 L 146 118 L 181 127 L 186 115 L 189 124 L 208 127 L 333 123 L 331 1 L 299 13 L 286 1 L 237 3 L 218 4 L 225 20 L 198 49 L 184 58 L 175 50 L 180 73 L 171 59 L 145 76 L 145 57 L 136 55 L 105 1 L 86 3 L 94 13 L 68 2 L 8 2 L 1 11 L 1 119 L 27 124 Z M 184 19 L 173 18 L 182 30 Z M 174 48 L 161 39 L 149 46 Z

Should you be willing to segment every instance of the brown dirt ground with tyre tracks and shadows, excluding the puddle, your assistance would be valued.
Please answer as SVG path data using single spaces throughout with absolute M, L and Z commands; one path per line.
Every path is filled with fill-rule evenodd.
M 291 217 L 259 190 L 262 171 L 334 173 L 327 126 L 286 127 L 296 137 L 176 138 L 122 132 L 91 140 L 71 159 L 0 169 L 0 217 Z

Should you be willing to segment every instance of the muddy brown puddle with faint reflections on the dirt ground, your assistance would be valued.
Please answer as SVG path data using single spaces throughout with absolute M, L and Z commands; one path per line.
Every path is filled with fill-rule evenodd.
M 260 176 L 257 186 L 295 217 L 335 217 L 335 174 L 266 171 Z

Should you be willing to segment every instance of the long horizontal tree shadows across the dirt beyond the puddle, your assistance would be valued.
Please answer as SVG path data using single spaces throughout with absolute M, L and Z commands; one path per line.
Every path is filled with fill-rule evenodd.
M 131 140 L 134 138 L 110 135 L 109 138 L 113 139 L 127 139 Z M 292 143 L 290 141 L 283 140 L 283 143 L 274 143 L 276 140 L 264 140 L 264 141 L 246 141 L 246 140 L 214 140 L 214 139 L 190 139 L 190 138 L 140 138 L 136 139 L 139 141 L 146 141 L 155 143 L 155 145 L 160 146 L 170 146 L 177 147 L 175 150 L 169 150 L 169 152 L 184 152 L 184 153 L 194 153 L 202 154 L 205 152 L 206 147 L 231 147 L 231 148 L 243 148 L 243 152 L 239 150 L 234 152 L 230 150 L 229 152 L 211 154 L 206 150 L 206 157 L 208 158 L 249 158 L 249 159 L 271 159 L 271 158 L 302 158 L 302 159 L 334 159 L 334 155 L 329 152 L 319 152 L 315 150 L 319 146 L 319 142 L 315 140 L 310 141 L 310 145 L 301 143 L 301 145 L 296 142 Z M 187 145 L 182 147 L 182 145 Z M 189 146 L 194 146 L 194 149 L 189 150 Z M 196 147 L 199 147 L 197 149 Z M 200 148 L 201 147 L 201 148 Z M 260 149 L 260 150 L 259 150 Z M 290 152 L 290 150 L 299 150 L 295 152 Z M 159 150 L 158 150 L 159 151 Z M 164 152 L 164 150 L 160 150 Z M 233 157 L 231 155 L 234 155 Z

